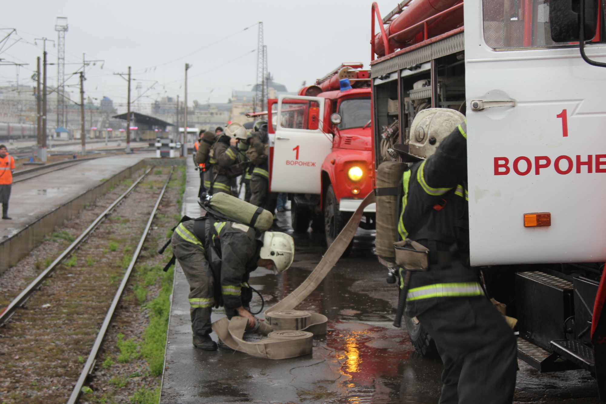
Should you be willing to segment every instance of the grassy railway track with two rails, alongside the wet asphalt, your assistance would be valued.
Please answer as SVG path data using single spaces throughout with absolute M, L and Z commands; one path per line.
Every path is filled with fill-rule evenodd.
M 156 170 L 156 173 L 151 176 L 148 175 L 149 173 L 150 170 L 147 170 L 124 194 L 120 195 L 105 209 L 0 314 L 0 325 L 8 327 L 6 331 L 1 331 L 2 329 L 0 329 L 0 332 L 11 334 L 8 336 L 0 335 L 0 337 L 8 337 L 10 340 L 19 341 L 23 338 L 31 338 L 28 334 L 52 335 L 52 337 L 49 336 L 48 338 L 43 337 L 44 341 L 32 340 L 32 342 L 25 345 L 25 351 L 29 350 L 29 352 L 24 352 L 22 355 L 16 355 L 12 358 L 19 359 L 22 356 L 21 359 L 25 359 L 25 357 L 35 359 L 37 362 L 35 365 L 38 365 L 39 369 L 37 371 L 32 369 L 31 374 L 48 372 L 52 375 L 63 375 L 62 379 L 65 380 L 59 382 L 62 386 L 56 386 L 57 394 L 51 394 L 50 396 L 47 394 L 48 397 L 45 396 L 42 402 L 65 402 L 67 396 L 70 395 L 67 391 L 69 390 L 71 392 L 69 402 L 75 403 L 78 400 L 79 392 L 82 385 L 84 385 L 88 373 L 95 367 L 95 358 L 104 338 L 105 331 L 107 331 L 110 325 L 113 312 L 118 306 L 128 277 L 139 257 L 145 237 L 147 237 L 150 230 L 151 221 L 156 214 L 156 210 L 158 210 L 158 206 L 161 203 L 164 191 L 172 175 L 172 170 L 168 173 L 168 177 L 165 172 L 162 175 L 158 175 L 159 170 Z M 162 177 L 163 186 L 159 183 L 159 177 Z M 136 194 L 134 200 L 132 200 L 133 192 Z M 159 194 L 156 194 L 157 198 L 149 198 L 149 192 L 153 192 L 154 194 L 159 192 Z M 153 202 L 155 202 L 153 207 L 148 209 Z M 128 221 L 127 217 L 125 217 L 125 215 L 129 214 L 137 216 L 132 219 L 136 219 L 136 226 L 133 224 L 135 223 L 134 221 Z M 147 224 L 141 233 L 138 224 L 145 221 L 142 220 L 142 216 L 147 218 Z M 107 224 L 102 224 L 107 218 L 110 218 L 108 221 L 110 223 L 106 222 Z M 132 225 L 138 227 L 138 230 L 130 231 L 130 233 L 121 232 L 122 227 Z M 136 246 L 134 244 L 135 241 L 133 241 L 136 237 L 132 237 L 133 233 L 141 235 Z M 107 241 L 109 240 L 115 240 L 118 243 L 110 241 L 108 244 Z M 88 242 L 84 243 L 84 241 Z M 118 244 L 118 247 L 116 247 L 116 244 Z M 102 246 L 108 246 L 109 248 L 101 248 Z M 78 249 L 78 256 L 76 257 L 75 252 Z M 119 257 L 121 252 L 125 253 L 124 256 L 121 260 L 116 260 L 116 255 Z M 85 268 L 82 268 L 83 270 L 76 269 L 80 266 Z M 86 268 L 87 266 L 92 266 L 93 268 Z M 95 267 L 98 268 L 98 271 L 96 271 L 97 268 Z M 116 290 L 116 285 L 120 278 L 121 281 Z M 41 286 L 42 291 L 36 293 Z M 49 303 L 40 305 L 43 301 L 48 301 Z M 27 306 L 30 307 L 28 308 Z M 20 307 L 24 307 L 25 310 L 22 312 L 19 311 Z M 13 317 L 12 322 L 7 323 L 15 313 L 19 315 Z M 105 319 L 101 323 L 104 317 Z M 94 343 L 91 342 L 93 337 L 95 338 Z M 36 346 L 39 349 L 38 352 L 31 351 L 28 345 L 32 346 L 31 349 L 33 349 L 33 346 Z M 90 350 L 91 346 L 93 347 L 92 350 Z M 74 355 L 83 353 L 84 349 L 88 352 L 88 359 L 84 362 L 84 360 L 81 361 L 83 356 L 76 356 L 77 361 L 74 361 Z M 53 353 L 47 355 L 45 351 Z M 49 358 L 48 356 L 51 357 Z M 71 356 L 72 360 L 65 360 L 67 356 Z M 5 359 L 9 358 L 5 357 Z M 30 362 L 32 361 L 27 360 L 27 365 L 30 368 L 35 368 L 36 366 L 30 365 Z M 75 362 L 84 362 L 84 368 L 78 369 L 81 372 L 79 372 L 79 376 L 77 377 L 75 377 L 75 368 L 81 365 L 74 365 Z M 57 363 L 66 363 L 64 365 L 65 368 L 56 369 Z M 8 365 L 5 368 L 10 367 L 8 362 L 5 362 L 5 365 Z M 17 374 L 17 376 L 20 376 L 20 374 Z M 78 382 L 74 386 L 76 378 Z M 50 380 L 56 383 L 57 379 L 57 377 L 54 377 Z M 68 380 L 70 382 L 65 383 Z M 9 379 L 8 382 L 10 383 L 10 381 Z M 32 384 L 34 383 L 36 382 L 32 382 Z M 2 383 L 0 383 L 1 391 Z M 14 402 L 25 401 L 16 399 Z

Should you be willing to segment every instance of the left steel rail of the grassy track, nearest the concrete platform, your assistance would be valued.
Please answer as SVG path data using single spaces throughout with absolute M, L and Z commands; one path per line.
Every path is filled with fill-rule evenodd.
M 143 175 L 141 175 L 141 177 L 139 177 L 138 180 L 136 180 L 135 183 L 132 184 L 132 186 L 128 187 L 124 194 L 120 195 L 118 199 L 113 201 L 113 203 L 107 209 L 105 209 L 104 212 L 99 215 L 95 219 L 95 221 L 93 221 L 93 223 L 91 223 L 90 226 L 88 226 L 88 228 L 84 232 L 82 232 L 82 234 L 79 235 L 78 238 L 76 238 L 76 240 L 74 240 L 73 243 L 70 244 L 70 246 L 67 247 L 61 253 L 61 255 L 59 255 L 59 257 L 55 259 L 55 261 L 53 261 L 44 271 L 42 271 L 38 275 L 38 277 L 36 277 L 36 279 L 33 280 L 32 283 L 27 286 L 27 288 L 23 289 L 23 291 L 15 299 L 13 299 L 13 301 L 10 302 L 7 308 L 5 308 L 4 311 L 2 311 L 2 313 L 0 314 L 0 327 L 3 326 L 8 321 L 8 319 L 12 317 L 13 314 L 15 314 L 15 311 L 19 307 L 21 307 L 23 303 L 25 303 L 25 301 L 27 301 L 27 299 L 30 297 L 30 295 L 32 295 L 32 293 L 36 289 L 39 288 L 39 286 L 48 277 L 48 275 L 55 271 L 55 268 L 59 265 L 59 263 L 61 263 L 61 261 L 64 260 L 65 257 L 68 257 L 68 255 L 72 254 L 72 252 L 74 252 L 78 248 L 79 244 L 81 244 L 82 241 L 84 241 L 96 229 L 96 227 L 99 226 L 99 223 L 104 221 L 105 218 L 107 218 L 107 216 L 112 213 L 112 210 L 114 210 L 115 207 L 118 206 L 118 204 L 121 203 L 124 198 L 126 198 L 128 194 L 132 192 L 133 189 L 135 189 L 135 187 L 141 182 L 141 180 L 143 180 L 143 178 L 145 178 L 145 176 L 147 176 L 150 171 L 151 168 L 148 169 Z

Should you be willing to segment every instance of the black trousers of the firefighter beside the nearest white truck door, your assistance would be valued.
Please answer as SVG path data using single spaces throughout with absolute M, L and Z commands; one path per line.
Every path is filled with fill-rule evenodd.
M 487 298 L 443 298 L 417 318 L 444 362 L 440 404 L 512 402 L 516 339 Z

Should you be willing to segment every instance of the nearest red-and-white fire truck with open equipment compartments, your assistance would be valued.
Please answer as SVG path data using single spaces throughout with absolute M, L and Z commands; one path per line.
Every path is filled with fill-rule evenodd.
M 604 2 L 375 2 L 371 19 L 375 169 L 420 110 L 464 113 L 471 266 L 518 319 L 520 359 L 587 369 L 606 400 Z

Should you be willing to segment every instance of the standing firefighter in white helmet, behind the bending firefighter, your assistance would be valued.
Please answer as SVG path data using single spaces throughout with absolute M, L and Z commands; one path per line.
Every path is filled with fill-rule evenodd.
M 217 192 L 232 194 L 232 180 L 242 175 L 247 166 L 245 155 L 238 147 L 238 143 L 246 140 L 246 129 L 239 123 L 229 124 L 225 132 L 216 138 L 209 160 L 213 168 L 204 177 L 204 186 L 209 195 Z

